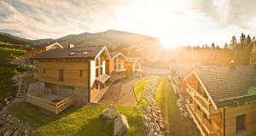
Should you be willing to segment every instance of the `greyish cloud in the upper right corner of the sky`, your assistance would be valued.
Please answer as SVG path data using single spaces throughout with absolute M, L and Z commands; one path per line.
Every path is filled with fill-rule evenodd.
M 190 8 L 210 16 L 219 26 L 254 29 L 248 22 L 256 17 L 255 0 L 191 0 Z

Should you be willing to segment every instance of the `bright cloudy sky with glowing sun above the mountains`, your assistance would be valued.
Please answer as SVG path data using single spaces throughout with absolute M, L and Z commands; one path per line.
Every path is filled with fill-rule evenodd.
M 1 0 L 0 31 L 30 39 L 107 30 L 160 38 L 166 47 L 222 46 L 256 36 L 256 0 Z

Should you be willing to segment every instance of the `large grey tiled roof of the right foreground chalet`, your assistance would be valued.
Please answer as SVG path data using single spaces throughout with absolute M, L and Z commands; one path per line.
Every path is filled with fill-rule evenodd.
M 248 93 L 249 88 L 256 86 L 256 71 L 252 67 L 201 66 L 195 68 L 195 73 L 217 107 L 256 100 L 256 94 Z

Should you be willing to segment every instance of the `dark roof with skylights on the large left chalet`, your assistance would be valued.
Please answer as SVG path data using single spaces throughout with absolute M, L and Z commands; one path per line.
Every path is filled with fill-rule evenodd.
M 56 48 L 38 54 L 33 59 L 95 59 L 105 46 Z

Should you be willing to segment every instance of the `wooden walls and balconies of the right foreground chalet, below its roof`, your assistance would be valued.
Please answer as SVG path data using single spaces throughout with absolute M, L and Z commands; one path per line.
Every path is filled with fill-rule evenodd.
M 203 136 L 256 135 L 256 100 L 214 107 L 195 74 L 186 77 L 186 106 Z

